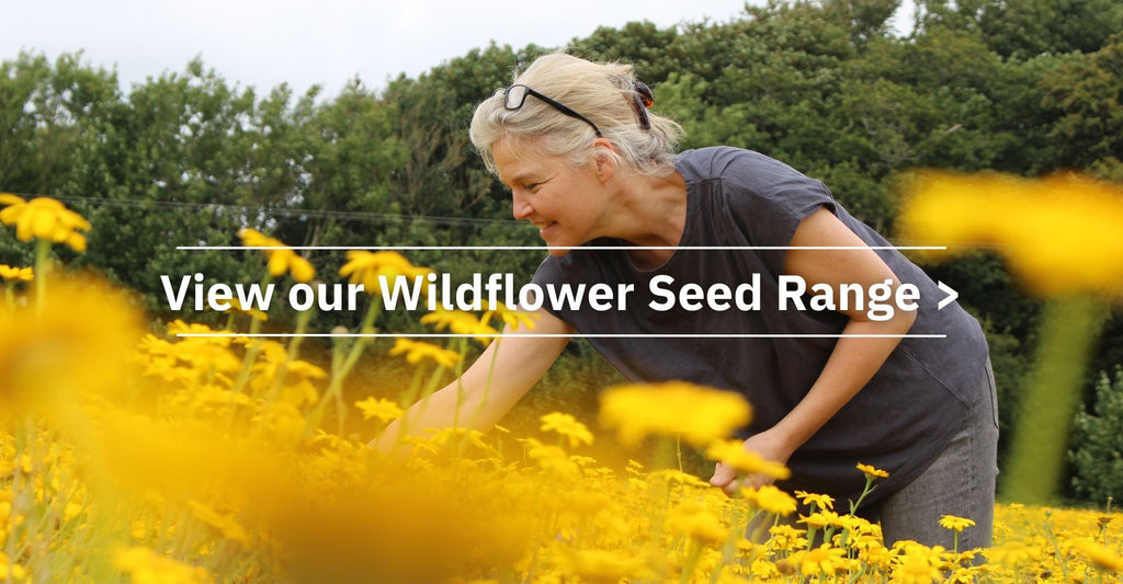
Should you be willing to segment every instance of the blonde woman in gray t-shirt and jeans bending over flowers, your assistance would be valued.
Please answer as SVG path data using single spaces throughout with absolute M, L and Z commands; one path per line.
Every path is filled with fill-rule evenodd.
M 591 344 L 633 380 L 745 395 L 755 417 L 745 447 L 788 465 L 784 488 L 844 502 L 865 484 L 857 463 L 888 471 L 862 509 L 882 521 L 886 544 L 951 547 L 939 519 L 952 515 L 976 521 L 960 548 L 988 546 L 997 416 L 978 323 L 955 304 L 937 309 L 943 295 L 932 280 L 897 251 L 869 249 L 888 243 L 822 183 L 748 150 L 672 154 L 681 128 L 650 103 L 629 66 L 554 54 L 478 105 L 473 143 L 511 189 L 515 219 L 551 248 L 535 282 L 633 284 L 637 296 L 627 310 L 539 310 L 533 333 L 544 336 L 504 339 L 497 352 L 493 344 L 458 383 L 412 408 L 409 427 L 490 427 L 567 342 L 545 335 L 597 333 Z M 823 249 L 840 247 L 850 249 Z M 809 288 L 910 284 L 920 306 L 887 318 L 782 310 L 780 276 Z M 759 309 L 657 310 L 643 296 L 656 277 L 703 289 L 752 281 Z M 668 336 L 697 333 L 734 336 Z M 939 334 L 947 336 L 914 336 Z M 401 429 L 392 426 L 380 445 Z M 710 482 L 732 492 L 767 480 L 719 463 Z

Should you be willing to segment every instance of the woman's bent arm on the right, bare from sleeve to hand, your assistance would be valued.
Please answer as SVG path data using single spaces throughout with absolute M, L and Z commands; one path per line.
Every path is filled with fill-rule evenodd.
M 827 208 L 820 208 L 804 219 L 792 238 L 792 247 L 866 247 L 849 228 Z M 807 287 L 825 284 L 838 289 L 841 284 L 860 284 L 866 290 L 875 284 L 891 280 L 901 285 L 893 270 L 874 250 L 811 250 L 791 249 L 784 259 L 784 272 L 801 276 Z M 871 321 L 865 310 L 841 310 L 850 321 L 846 335 L 887 334 L 901 335 L 912 328 L 915 312 L 894 310 L 887 321 Z M 807 442 L 834 414 L 866 386 L 882 368 L 889 353 L 901 343 L 900 337 L 839 339 L 819 378 L 807 395 L 775 426 L 745 441 L 745 447 L 765 458 L 786 463 L 792 453 Z M 719 464 L 711 484 L 732 492 L 739 485 L 736 472 Z M 740 481 L 747 486 L 759 486 L 769 480 L 747 476 Z

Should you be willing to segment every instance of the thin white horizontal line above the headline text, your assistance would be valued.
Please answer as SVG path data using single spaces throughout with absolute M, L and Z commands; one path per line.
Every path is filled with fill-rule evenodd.
M 396 250 L 396 251 L 430 251 L 430 250 L 693 250 L 693 251 L 718 251 L 718 250 L 947 250 L 947 245 L 177 245 L 176 250 L 200 251 L 200 250 L 328 250 L 328 251 L 366 251 L 366 250 Z

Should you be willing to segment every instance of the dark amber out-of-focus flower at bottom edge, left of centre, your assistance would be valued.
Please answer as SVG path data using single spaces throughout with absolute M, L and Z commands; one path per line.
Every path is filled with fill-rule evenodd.
M 510 566 L 531 525 L 477 481 L 396 469 L 367 484 L 310 491 L 280 481 L 256 498 L 292 582 L 447 582 L 467 566 Z M 291 481 L 290 481 L 291 483 Z

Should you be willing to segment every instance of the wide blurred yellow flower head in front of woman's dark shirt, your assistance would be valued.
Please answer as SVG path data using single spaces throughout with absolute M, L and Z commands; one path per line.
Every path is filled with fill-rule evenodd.
M 601 421 L 615 427 L 629 446 L 650 434 L 679 435 L 704 446 L 748 424 L 751 414 L 737 393 L 685 381 L 615 386 L 601 395 Z

